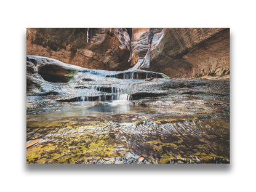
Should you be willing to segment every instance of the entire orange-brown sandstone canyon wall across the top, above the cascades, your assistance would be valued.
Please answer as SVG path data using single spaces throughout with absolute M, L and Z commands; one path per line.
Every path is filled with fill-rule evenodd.
M 90 69 L 142 69 L 170 78 L 230 74 L 228 28 L 28 28 L 28 55 Z

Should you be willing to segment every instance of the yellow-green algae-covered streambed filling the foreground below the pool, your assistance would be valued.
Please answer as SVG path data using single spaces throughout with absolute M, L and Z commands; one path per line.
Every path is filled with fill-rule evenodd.
M 183 130 L 179 124 L 193 129 Z M 158 163 L 213 163 L 216 158 L 229 159 L 229 126 L 226 119 L 204 119 L 196 114 L 158 118 L 114 114 L 28 121 L 27 132 L 33 134 L 28 134 L 27 140 L 43 140 L 27 149 L 26 162 L 114 163 L 113 158 L 132 151 L 151 163 L 154 159 Z

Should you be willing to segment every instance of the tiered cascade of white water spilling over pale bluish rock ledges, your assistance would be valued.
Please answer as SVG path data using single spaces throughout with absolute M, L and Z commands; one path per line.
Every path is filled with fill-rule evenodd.
M 148 78 L 151 79 L 148 80 Z M 132 95 L 138 91 L 135 87 L 143 81 L 151 81 L 153 78 L 163 77 L 161 74 L 143 70 L 82 70 L 73 79 L 75 91 L 67 91 L 73 92 L 73 95 L 77 96 L 59 101 L 120 101 L 119 103 L 129 103 L 129 100 L 133 99 Z M 137 99 L 138 97 L 134 98 Z

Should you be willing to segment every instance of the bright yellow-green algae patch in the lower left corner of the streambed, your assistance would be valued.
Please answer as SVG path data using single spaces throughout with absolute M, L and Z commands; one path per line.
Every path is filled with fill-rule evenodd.
M 111 158 L 118 156 L 114 153 L 116 144 L 109 144 L 106 138 L 98 140 L 79 138 L 62 140 L 59 143 L 45 143 L 27 149 L 27 163 L 75 163 L 79 158 L 98 156 Z

